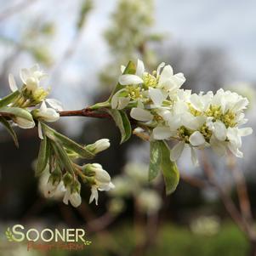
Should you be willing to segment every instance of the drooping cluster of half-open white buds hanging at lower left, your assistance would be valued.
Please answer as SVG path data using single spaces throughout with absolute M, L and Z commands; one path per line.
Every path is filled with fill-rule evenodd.
M 93 154 L 104 151 L 109 146 L 109 139 L 100 139 L 92 145 L 87 145 L 85 149 Z M 77 158 L 73 152 L 67 151 L 67 153 L 66 157 Z M 91 196 L 89 202 L 91 203 L 95 200 L 96 205 L 98 205 L 98 191 L 109 191 L 115 187 L 111 183 L 111 176 L 99 163 L 87 163 L 79 166 L 75 162 L 71 162 L 71 170 L 74 170 L 72 173 L 72 171 L 65 172 L 65 168 L 60 164 L 60 159 L 57 157 L 58 155 L 53 155 L 51 161 L 47 162 L 43 170 L 40 185 L 43 196 L 55 199 L 63 197 L 65 204 L 70 202 L 73 207 L 77 208 L 82 202 L 79 177 L 83 183 L 90 185 Z

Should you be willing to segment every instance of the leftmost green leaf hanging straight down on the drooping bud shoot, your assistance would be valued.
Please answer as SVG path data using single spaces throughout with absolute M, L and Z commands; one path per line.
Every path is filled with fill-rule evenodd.
M 48 142 L 48 138 L 45 136 L 41 140 L 40 149 L 37 158 L 37 167 L 36 167 L 36 176 L 40 176 L 43 173 L 43 170 L 47 166 L 48 158 L 51 151 L 51 145 Z

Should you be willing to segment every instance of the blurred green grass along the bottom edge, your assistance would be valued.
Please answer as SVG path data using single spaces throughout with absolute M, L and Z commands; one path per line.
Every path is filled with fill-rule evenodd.
M 248 242 L 242 232 L 235 225 L 221 226 L 219 233 L 214 236 L 201 236 L 191 232 L 185 226 L 163 224 L 157 233 L 151 247 L 147 247 L 145 256 L 174 255 L 174 256 L 246 256 Z M 93 242 L 84 251 L 75 255 L 132 255 L 138 237 L 145 237 L 145 233 L 137 230 L 134 236 L 133 226 L 122 225 L 110 230 L 111 236 L 100 239 L 89 237 Z M 50 252 L 54 256 L 54 251 Z M 59 254 L 58 254 L 59 255 Z M 69 255 L 62 252 L 61 256 Z

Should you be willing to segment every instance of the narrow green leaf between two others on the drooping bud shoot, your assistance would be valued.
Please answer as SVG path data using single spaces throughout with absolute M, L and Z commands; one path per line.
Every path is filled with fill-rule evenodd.
M 74 175 L 74 169 L 72 166 L 72 162 L 68 155 L 65 152 L 65 149 L 60 145 L 58 141 L 50 140 L 51 146 L 54 149 L 54 152 L 56 156 L 58 156 L 58 160 L 63 165 L 63 168 L 65 168 L 65 171 L 70 173 L 71 175 Z

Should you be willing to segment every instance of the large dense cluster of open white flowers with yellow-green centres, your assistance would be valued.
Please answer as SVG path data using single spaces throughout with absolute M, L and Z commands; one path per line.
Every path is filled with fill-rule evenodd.
M 231 151 L 242 157 L 242 136 L 252 134 L 252 128 L 240 128 L 247 122 L 244 110 L 248 100 L 239 94 L 219 89 L 193 94 L 180 87 L 185 82 L 182 73 L 174 74 L 170 65 L 161 63 L 156 71 L 145 71 L 138 60 L 135 74 L 119 77 L 122 88 L 111 99 L 113 109 L 131 109 L 130 116 L 139 121 L 151 139 L 176 139 L 170 158 L 176 161 L 185 147 L 191 149 L 191 159 L 197 164 L 196 149 L 212 147 L 220 156 Z

